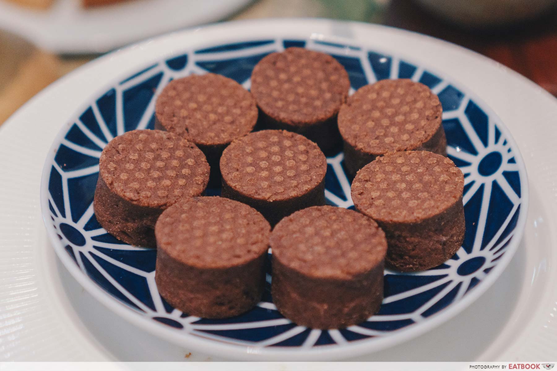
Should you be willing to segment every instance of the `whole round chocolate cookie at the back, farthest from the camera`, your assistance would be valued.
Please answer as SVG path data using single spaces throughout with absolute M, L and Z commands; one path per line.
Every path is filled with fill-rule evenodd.
M 251 92 L 265 128 L 300 133 L 328 151 L 340 145 L 336 115 L 350 80 L 330 55 L 287 48 L 263 58 L 251 75 Z

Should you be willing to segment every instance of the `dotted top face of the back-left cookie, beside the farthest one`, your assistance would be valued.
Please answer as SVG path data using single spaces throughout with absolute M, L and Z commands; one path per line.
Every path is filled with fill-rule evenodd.
M 252 131 L 257 121 L 251 93 L 214 73 L 170 81 L 155 113 L 166 130 L 202 145 L 228 144 Z

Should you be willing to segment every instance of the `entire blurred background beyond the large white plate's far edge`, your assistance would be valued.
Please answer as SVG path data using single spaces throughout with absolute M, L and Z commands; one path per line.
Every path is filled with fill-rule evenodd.
M 0 0 L 0 125 L 106 52 L 177 29 L 268 17 L 420 32 L 493 58 L 557 96 L 557 0 Z

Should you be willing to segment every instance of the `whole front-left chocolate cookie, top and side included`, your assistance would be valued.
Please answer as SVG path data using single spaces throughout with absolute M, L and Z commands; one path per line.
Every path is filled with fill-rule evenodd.
M 160 295 L 203 318 L 242 314 L 261 300 L 271 226 L 252 207 L 222 197 L 180 200 L 155 226 Z

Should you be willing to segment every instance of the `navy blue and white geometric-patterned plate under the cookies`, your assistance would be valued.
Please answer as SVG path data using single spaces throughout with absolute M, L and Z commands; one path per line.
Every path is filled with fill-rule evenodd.
M 422 333 L 470 304 L 478 296 L 475 291 L 483 292 L 499 276 L 516 250 L 515 236 L 521 234 L 527 209 L 525 168 L 506 128 L 471 91 L 442 73 L 410 58 L 324 40 L 328 39 L 253 38 L 194 50 L 174 48 L 172 55 L 129 71 L 85 102 L 86 108 L 69 119 L 46 161 L 42 212 L 58 255 L 87 289 L 141 327 L 207 353 L 296 359 L 304 354 L 312 359 L 323 352 L 341 357 L 346 349 L 369 352 Z M 427 271 L 386 270 L 379 313 L 346 329 L 297 326 L 278 313 L 268 284 L 261 303 L 241 316 L 208 320 L 182 313 L 157 291 L 156 251 L 125 245 L 107 234 L 92 207 L 102 148 L 125 131 L 153 128 L 155 97 L 170 80 L 214 72 L 249 88 L 253 66 L 268 53 L 289 46 L 337 58 L 349 73 L 351 93 L 384 78 L 412 78 L 429 86 L 443 105 L 449 157 L 465 174 L 462 248 L 445 264 Z M 330 204 L 353 207 L 343 154 L 329 157 L 328 164 L 326 198 Z

